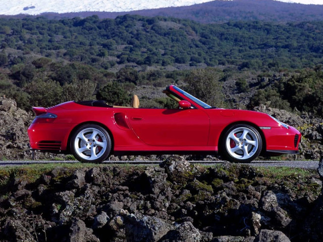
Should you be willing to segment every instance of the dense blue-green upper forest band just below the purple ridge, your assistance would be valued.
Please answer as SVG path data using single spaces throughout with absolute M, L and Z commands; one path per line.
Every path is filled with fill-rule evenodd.
M 105 69 L 115 63 L 304 68 L 320 63 L 323 53 L 323 22 L 203 25 L 126 15 L 101 21 L 97 16 L 60 21 L 1 19 L 0 26 L 2 49 L 62 57 Z

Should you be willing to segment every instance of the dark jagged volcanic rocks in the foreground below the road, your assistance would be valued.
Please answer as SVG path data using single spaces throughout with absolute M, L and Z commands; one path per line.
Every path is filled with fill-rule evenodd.
M 158 166 L 57 167 L 33 180 L 28 172 L 0 172 L 1 241 L 323 239 L 316 171 L 279 178 L 172 156 Z

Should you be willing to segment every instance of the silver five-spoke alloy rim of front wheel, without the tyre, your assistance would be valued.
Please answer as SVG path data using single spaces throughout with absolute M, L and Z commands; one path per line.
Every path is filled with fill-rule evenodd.
M 259 140 L 253 130 L 239 127 L 227 135 L 225 146 L 230 156 L 237 160 L 246 160 L 257 153 Z

